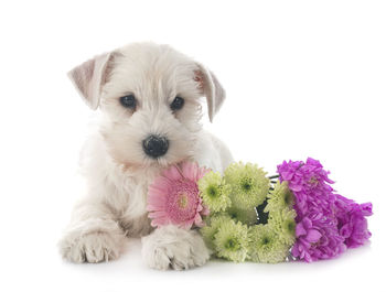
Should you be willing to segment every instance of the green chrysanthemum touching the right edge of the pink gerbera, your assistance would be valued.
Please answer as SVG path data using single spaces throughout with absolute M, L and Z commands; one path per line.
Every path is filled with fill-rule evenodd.
M 225 210 L 230 206 L 230 187 L 217 172 L 208 172 L 199 181 L 200 194 L 211 212 Z

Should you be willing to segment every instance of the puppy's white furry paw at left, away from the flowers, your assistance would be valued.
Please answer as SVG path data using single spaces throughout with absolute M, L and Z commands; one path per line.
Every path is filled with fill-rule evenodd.
M 60 242 L 63 258 L 73 262 L 114 260 L 119 257 L 121 248 L 121 238 L 105 231 L 79 236 L 67 234 Z

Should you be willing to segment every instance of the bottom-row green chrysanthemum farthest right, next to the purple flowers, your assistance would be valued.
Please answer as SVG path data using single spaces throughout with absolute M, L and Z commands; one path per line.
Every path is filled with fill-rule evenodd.
M 277 263 L 286 260 L 289 247 L 278 240 L 275 229 L 269 224 L 249 228 L 249 258 L 251 261 Z

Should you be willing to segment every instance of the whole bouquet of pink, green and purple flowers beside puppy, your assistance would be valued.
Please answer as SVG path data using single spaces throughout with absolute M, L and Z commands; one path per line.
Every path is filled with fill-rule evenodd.
M 149 186 L 152 226 L 200 228 L 215 257 L 235 262 L 330 259 L 371 237 L 372 204 L 336 194 L 319 161 L 285 161 L 277 172 L 242 162 L 224 175 L 172 165 Z

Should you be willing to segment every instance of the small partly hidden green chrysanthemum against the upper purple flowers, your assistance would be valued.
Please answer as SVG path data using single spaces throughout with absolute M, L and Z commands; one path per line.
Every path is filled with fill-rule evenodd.
M 288 183 L 279 181 L 276 183 L 275 188 L 268 195 L 268 205 L 265 212 L 279 210 L 279 209 L 291 209 L 294 203 L 293 195 L 288 188 Z

